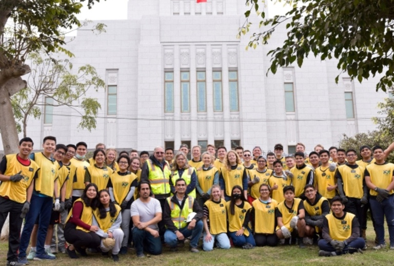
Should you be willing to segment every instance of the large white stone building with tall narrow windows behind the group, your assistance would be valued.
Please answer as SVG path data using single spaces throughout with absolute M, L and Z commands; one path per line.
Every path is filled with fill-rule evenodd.
M 181 143 L 267 151 L 282 143 L 287 152 L 297 142 L 311 151 L 375 128 L 371 117 L 387 97 L 375 92 L 377 78 L 360 84 L 341 76 L 336 84 L 337 62 L 313 57 L 302 69 L 266 76 L 266 54 L 281 45 L 285 29 L 269 45 L 246 51 L 248 37 L 236 38 L 244 4 L 130 0 L 128 19 L 95 21 L 107 25 L 106 33 L 78 31 L 67 47 L 74 65 L 92 64 L 107 84 L 96 95 L 102 104 L 97 128 L 77 128 L 77 113 L 56 107 L 29 120 L 28 136 L 35 143 L 53 135 L 64 144 L 104 142 L 139 151 Z

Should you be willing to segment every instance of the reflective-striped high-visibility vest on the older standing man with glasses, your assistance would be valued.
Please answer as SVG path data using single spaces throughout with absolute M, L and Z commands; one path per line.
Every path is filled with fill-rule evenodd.
M 149 169 L 149 182 L 154 195 L 163 195 L 170 193 L 170 175 L 171 171 L 165 164 L 163 171 L 160 167 L 154 165 L 150 159 L 146 160 Z

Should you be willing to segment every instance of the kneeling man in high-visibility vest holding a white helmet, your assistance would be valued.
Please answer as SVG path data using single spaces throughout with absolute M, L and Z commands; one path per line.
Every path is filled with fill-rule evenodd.
M 197 201 L 185 192 L 186 181 L 182 178 L 176 180 L 175 195 L 167 198 L 163 209 L 163 220 L 167 228 L 164 241 L 171 251 L 176 251 L 178 243 L 182 245 L 185 238 L 191 236 L 190 252 L 199 252 L 197 246 L 203 232 L 203 210 Z M 195 215 L 188 219 L 191 213 Z

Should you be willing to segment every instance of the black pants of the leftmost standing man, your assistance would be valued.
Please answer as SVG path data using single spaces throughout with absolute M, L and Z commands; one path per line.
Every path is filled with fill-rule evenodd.
M 5 197 L 0 197 L 0 231 L 7 219 L 8 213 L 10 214 L 10 232 L 8 236 L 8 261 L 18 261 L 18 249 L 21 242 L 21 227 L 23 219 L 21 218 L 22 203 L 17 203 Z

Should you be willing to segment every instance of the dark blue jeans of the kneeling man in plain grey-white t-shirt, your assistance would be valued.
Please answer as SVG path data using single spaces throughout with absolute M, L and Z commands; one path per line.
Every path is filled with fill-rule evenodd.
M 152 255 L 162 254 L 162 241 L 159 237 L 153 237 L 148 231 L 133 228 L 133 242 L 137 255 L 144 250 Z

